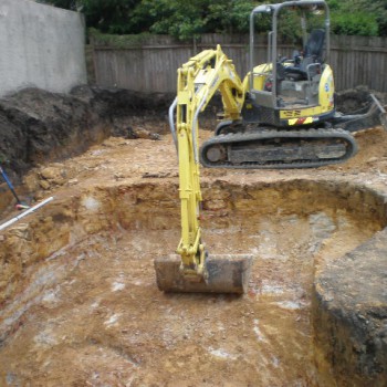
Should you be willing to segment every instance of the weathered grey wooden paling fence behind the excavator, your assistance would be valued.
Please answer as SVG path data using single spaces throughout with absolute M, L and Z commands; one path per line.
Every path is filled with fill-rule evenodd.
M 175 93 L 176 71 L 194 54 L 215 49 L 232 59 L 241 77 L 249 71 L 249 38 L 247 35 L 206 34 L 192 44 L 175 41 L 170 36 L 149 36 L 142 44 L 125 49 L 94 43 L 96 84 L 139 92 Z M 265 42 L 259 40 L 257 63 L 265 61 Z M 279 53 L 290 55 L 293 48 L 280 45 Z M 387 92 L 387 38 L 336 36 L 331 39 L 331 66 L 336 90 L 366 85 Z

